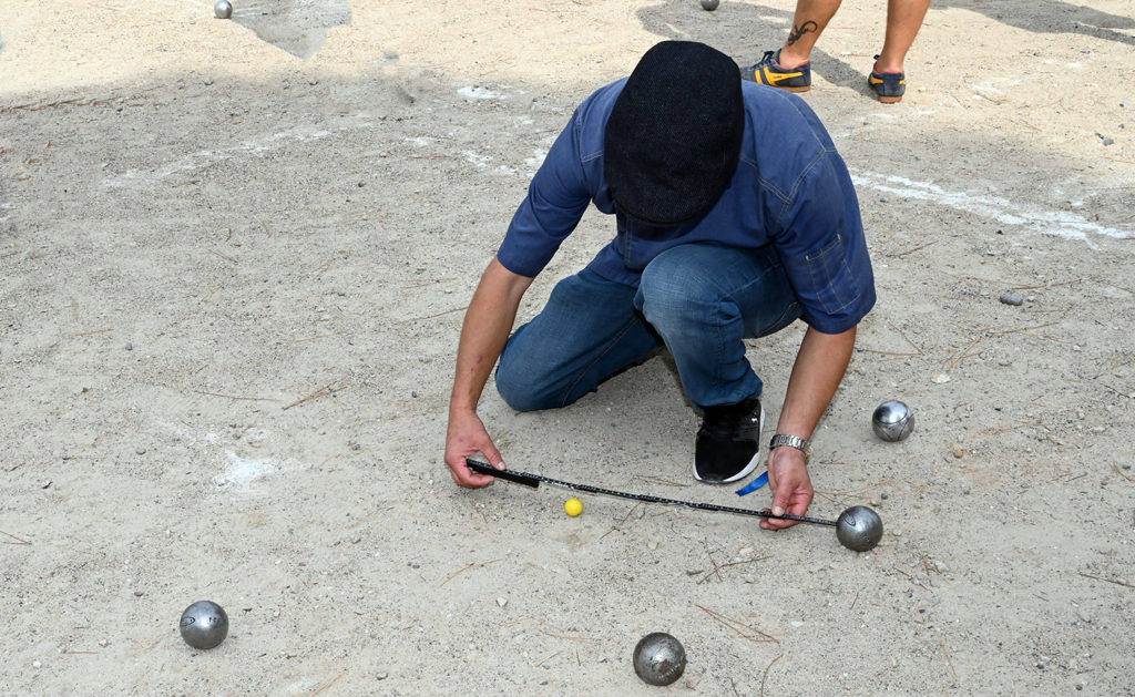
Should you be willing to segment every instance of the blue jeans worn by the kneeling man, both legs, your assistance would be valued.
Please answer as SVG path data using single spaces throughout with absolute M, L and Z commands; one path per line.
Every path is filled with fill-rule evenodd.
M 508 337 L 497 391 L 518 411 L 565 406 L 664 345 L 691 402 L 735 404 L 763 388 L 743 339 L 798 317 L 772 247 L 683 244 L 651 260 L 638 288 L 590 269 L 561 280 L 544 310 Z

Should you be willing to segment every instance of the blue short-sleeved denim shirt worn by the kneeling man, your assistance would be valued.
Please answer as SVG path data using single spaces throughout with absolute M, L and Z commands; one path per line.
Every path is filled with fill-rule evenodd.
M 625 82 L 598 90 L 572 115 L 532 178 L 497 260 L 514 274 L 537 276 L 594 203 L 615 215 L 615 238 L 589 264 L 608 280 L 637 286 L 646 264 L 679 244 L 771 244 L 809 326 L 826 334 L 855 327 L 875 304 L 859 202 L 847 166 L 805 101 L 742 83 L 745 140 L 729 188 L 700 220 L 669 238 L 647 240 L 619 215 L 603 174 L 604 129 Z

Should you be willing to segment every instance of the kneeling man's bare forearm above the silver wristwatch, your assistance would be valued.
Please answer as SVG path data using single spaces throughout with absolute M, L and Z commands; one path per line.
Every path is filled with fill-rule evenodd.
M 776 433 L 810 439 L 855 350 L 856 328 L 823 334 L 808 328 L 792 366 Z

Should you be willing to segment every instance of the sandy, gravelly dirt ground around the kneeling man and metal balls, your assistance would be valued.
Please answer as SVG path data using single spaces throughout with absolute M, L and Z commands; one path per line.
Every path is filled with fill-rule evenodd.
M 935 0 L 894 106 L 884 3 L 821 37 L 878 304 L 809 513 L 875 507 L 856 554 L 443 462 L 462 310 L 574 106 L 664 39 L 753 62 L 791 2 L 234 1 L 0 0 L 0 694 L 1135 692 L 1135 2 Z M 802 330 L 751 343 L 773 419 Z M 514 469 L 768 504 L 690 479 L 663 358 L 480 411 Z

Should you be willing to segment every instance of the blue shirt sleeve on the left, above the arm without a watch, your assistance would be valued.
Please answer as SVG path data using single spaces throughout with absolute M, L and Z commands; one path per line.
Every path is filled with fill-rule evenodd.
M 591 202 L 580 154 L 581 111 L 548 151 L 512 217 L 497 261 L 513 274 L 536 277 L 575 229 Z

